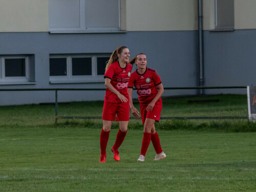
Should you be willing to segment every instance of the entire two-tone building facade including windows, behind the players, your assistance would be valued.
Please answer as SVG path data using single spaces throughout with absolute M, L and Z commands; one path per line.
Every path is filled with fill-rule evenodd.
M 199 85 L 198 0 L 2 0 L 0 89 L 104 89 L 118 46 L 147 55 L 163 86 Z M 250 86 L 256 1 L 202 0 L 205 87 Z M 135 69 L 135 66 L 134 66 Z M 59 91 L 58 101 L 103 100 L 104 91 Z M 196 95 L 165 90 L 163 96 Z M 246 90 L 205 90 L 205 94 Z M 135 96 L 135 94 L 134 94 Z M 1 91 L 0 105 L 54 102 L 53 91 Z

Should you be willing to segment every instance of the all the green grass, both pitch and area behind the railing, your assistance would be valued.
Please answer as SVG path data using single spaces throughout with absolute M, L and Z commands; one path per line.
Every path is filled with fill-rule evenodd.
M 247 115 L 246 96 L 205 98 L 220 101 L 165 99 L 162 116 Z M 101 101 L 59 105 L 63 116 L 101 113 Z M 167 156 L 153 161 L 151 144 L 145 162 L 137 161 L 140 120 L 131 121 L 121 160 L 114 161 L 115 122 L 100 164 L 100 120 L 54 124 L 54 114 L 54 105 L 0 106 L 0 191 L 256 191 L 256 129 L 248 120 L 162 120 L 158 134 Z

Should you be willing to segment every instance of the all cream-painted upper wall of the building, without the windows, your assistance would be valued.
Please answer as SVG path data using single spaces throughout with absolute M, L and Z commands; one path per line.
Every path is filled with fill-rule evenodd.
M 198 0 L 121 0 L 121 29 L 198 29 Z M 256 29 L 256 1 L 234 0 L 234 28 Z M 48 0 L 1 0 L 0 32 L 49 31 Z M 203 29 L 213 30 L 215 0 L 203 0 Z

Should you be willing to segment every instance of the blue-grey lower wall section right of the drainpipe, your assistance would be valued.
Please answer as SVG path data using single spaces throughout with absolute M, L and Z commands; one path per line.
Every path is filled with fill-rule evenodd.
M 256 30 L 204 32 L 205 86 L 255 86 Z M 246 90 L 207 90 L 242 93 Z

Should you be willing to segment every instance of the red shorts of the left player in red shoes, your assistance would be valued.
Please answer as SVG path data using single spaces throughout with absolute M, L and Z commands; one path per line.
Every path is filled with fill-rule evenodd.
M 118 116 L 118 121 L 129 121 L 129 102 L 110 103 L 104 101 L 102 119 L 106 121 L 115 121 L 116 114 Z

